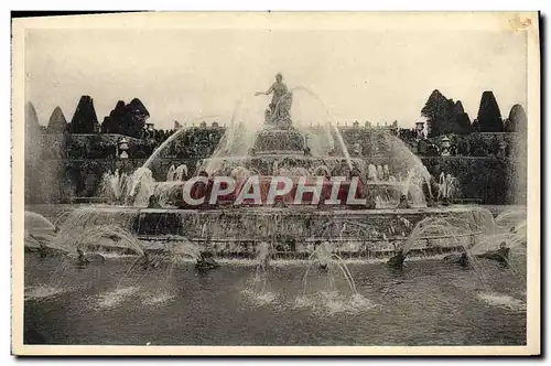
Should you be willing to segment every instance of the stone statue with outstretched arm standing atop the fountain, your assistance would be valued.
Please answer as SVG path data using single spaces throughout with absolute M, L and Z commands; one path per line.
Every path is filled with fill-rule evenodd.
M 289 128 L 292 125 L 291 104 L 293 96 L 283 83 L 283 75 L 281 75 L 281 73 L 276 75 L 276 83 L 273 83 L 267 92 L 257 92 L 255 95 L 270 94 L 272 94 L 272 101 L 266 109 L 264 122 L 280 128 Z

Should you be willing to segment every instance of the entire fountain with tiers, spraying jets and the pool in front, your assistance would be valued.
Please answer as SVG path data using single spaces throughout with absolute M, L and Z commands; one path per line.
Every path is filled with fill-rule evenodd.
M 105 175 L 108 204 L 54 223 L 25 212 L 28 250 L 63 254 L 25 255 L 25 343 L 50 329 L 56 344 L 472 345 L 511 331 L 526 344 L 526 212 L 494 219 L 452 204 L 449 175 L 434 192 L 445 206 L 428 207 L 426 169 L 396 136 L 363 130 L 369 143 L 353 158 L 313 92 L 278 88 L 266 110 L 240 99 L 212 157 L 190 170 L 166 164 L 181 129 L 134 172 Z M 227 266 L 204 276 L 197 267 L 215 258 Z M 388 258 L 406 270 L 387 270 Z M 518 314 L 484 324 L 488 305 Z

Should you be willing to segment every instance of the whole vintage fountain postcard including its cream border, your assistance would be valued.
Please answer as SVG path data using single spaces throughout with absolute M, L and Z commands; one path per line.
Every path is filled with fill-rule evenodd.
M 537 12 L 12 19 L 13 353 L 539 354 L 539 78 Z

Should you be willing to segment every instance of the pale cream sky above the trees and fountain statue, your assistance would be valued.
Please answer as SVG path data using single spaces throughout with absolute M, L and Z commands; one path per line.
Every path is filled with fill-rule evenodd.
M 336 121 L 409 128 L 434 89 L 462 100 L 472 120 L 485 90 L 503 117 L 515 104 L 526 108 L 526 35 L 512 31 L 32 29 L 25 99 L 41 125 L 56 106 L 71 121 L 82 95 L 93 97 L 100 122 L 134 97 L 155 128 L 212 116 L 225 122 L 239 100 L 263 108 L 269 98 L 251 96 L 281 72 Z M 293 108 L 307 99 L 296 97 Z

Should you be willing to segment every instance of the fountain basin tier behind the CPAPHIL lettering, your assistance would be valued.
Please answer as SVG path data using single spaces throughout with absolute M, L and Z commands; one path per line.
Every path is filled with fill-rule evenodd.
M 230 177 L 228 177 L 230 179 Z M 288 179 L 289 182 L 283 182 Z M 346 177 L 343 177 L 346 179 Z M 248 181 L 248 182 L 247 182 Z M 282 192 L 289 184 L 289 192 L 284 194 L 274 194 L 276 190 Z M 317 196 L 311 191 L 317 185 Z M 215 187 L 215 189 L 214 189 Z M 219 189 L 219 190 L 218 190 Z M 235 189 L 227 192 L 228 183 L 226 181 L 216 181 L 208 179 L 208 183 L 197 181 L 177 181 L 158 183 L 153 189 L 162 206 L 175 206 L 177 208 L 212 208 L 234 205 L 240 194 L 253 193 L 259 191 L 258 200 L 244 197 L 239 205 L 262 205 L 270 206 L 276 202 L 285 205 L 317 205 L 326 200 L 336 200 L 331 205 L 341 205 L 352 208 L 391 208 L 400 203 L 403 194 L 403 184 L 399 182 L 372 182 L 364 183 L 360 180 L 353 181 L 346 179 L 341 182 L 332 181 L 323 176 L 249 176 L 248 179 L 237 180 Z M 184 200 L 183 192 L 190 192 L 188 198 Z M 333 191 L 335 196 L 332 197 Z M 408 193 L 410 202 L 414 201 L 411 192 Z M 196 200 L 204 201 L 197 203 Z M 191 202 L 191 201 L 193 202 Z M 418 206 L 420 206 L 418 204 Z M 425 206 L 425 204 L 421 205 Z

